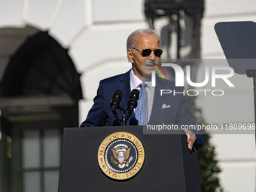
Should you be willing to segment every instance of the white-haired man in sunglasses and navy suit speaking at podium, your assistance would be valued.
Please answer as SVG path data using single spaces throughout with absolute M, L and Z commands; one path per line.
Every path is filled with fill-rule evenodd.
M 132 69 L 125 74 L 100 81 L 93 107 L 90 109 L 87 119 L 81 123 L 81 126 L 120 125 L 109 106 L 114 90 L 123 92 L 120 105 L 126 107 L 130 99 L 131 90 L 140 87 L 141 84 L 145 87 L 148 99 L 145 117 L 149 118 L 142 123 L 139 120 L 138 113 L 133 111 L 131 117 L 127 120 L 127 125 L 196 124 L 187 105 L 187 98 L 181 94 L 183 87 L 175 87 L 172 81 L 160 78 L 157 78 L 156 87 L 151 86 L 151 73 L 154 70 L 152 66 L 157 66 L 161 53 L 160 40 L 154 30 L 139 29 L 133 32 L 127 39 L 127 57 L 132 63 Z M 175 90 L 175 93 L 179 94 L 175 96 L 173 94 L 160 96 L 160 90 Z M 117 111 L 117 114 L 118 117 L 121 117 L 122 111 Z M 190 150 L 193 145 L 196 148 L 200 148 L 203 145 L 204 137 L 202 134 L 195 134 L 190 130 L 184 130 L 184 132 L 187 136 Z

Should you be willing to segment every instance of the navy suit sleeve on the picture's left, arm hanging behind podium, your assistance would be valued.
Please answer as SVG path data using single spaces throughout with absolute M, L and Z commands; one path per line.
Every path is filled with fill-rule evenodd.
M 99 82 L 99 88 L 97 90 L 97 95 L 93 99 L 93 107 L 90 109 L 87 119 L 81 123 L 81 126 L 105 126 L 105 108 L 104 108 L 104 90 L 102 86 L 102 81 Z

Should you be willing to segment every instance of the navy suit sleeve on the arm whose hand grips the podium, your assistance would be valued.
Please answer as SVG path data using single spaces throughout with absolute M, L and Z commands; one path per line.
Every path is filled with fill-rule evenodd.
M 183 92 L 183 88 L 179 91 L 179 92 Z M 187 103 L 187 97 L 184 96 L 183 94 L 179 94 L 179 110 L 178 110 L 178 119 L 177 119 L 177 123 L 181 124 L 181 125 L 194 125 L 194 127 L 196 127 L 197 123 L 194 120 L 193 115 L 191 114 L 189 105 Z M 200 133 L 199 131 L 195 130 L 191 130 L 193 133 L 196 134 L 196 141 L 194 143 L 195 148 L 200 148 L 203 146 L 204 142 L 205 142 L 205 138 L 203 136 L 202 133 Z

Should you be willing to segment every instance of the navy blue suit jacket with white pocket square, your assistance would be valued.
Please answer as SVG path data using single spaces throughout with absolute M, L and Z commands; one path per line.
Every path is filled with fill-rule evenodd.
M 160 96 L 160 89 L 175 90 L 175 96 L 172 94 L 163 94 Z M 126 107 L 130 96 L 130 71 L 122 75 L 106 78 L 99 83 L 97 95 L 94 98 L 93 107 L 90 109 L 87 119 L 81 123 L 81 126 L 116 126 L 119 125 L 110 108 L 114 90 L 122 90 L 123 99 L 120 102 L 122 107 Z M 183 87 L 175 87 L 172 81 L 157 78 L 157 84 L 154 93 L 153 109 L 149 119 L 149 125 L 167 124 L 196 124 L 194 117 L 190 113 L 186 96 L 183 96 Z M 170 108 L 163 108 L 163 104 L 170 105 Z M 117 110 L 118 117 L 122 117 L 123 112 Z M 138 125 L 135 114 L 132 113 L 127 121 L 127 125 Z M 204 143 L 202 134 L 195 132 L 197 140 L 195 147 L 200 148 Z

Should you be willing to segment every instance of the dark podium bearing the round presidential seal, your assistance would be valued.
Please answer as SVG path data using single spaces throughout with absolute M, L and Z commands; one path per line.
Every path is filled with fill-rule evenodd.
M 111 149 L 118 148 L 119 145 L 114 147 L 114 145 L 110 144 L 110 136 L 113 133 L 120 132 L 132 134 L 136 138 L 133 140 L 139 140 L 144 148 L 143 163 L 139 170 L 137 170 L 138 172 L 132 177 L 123 180 L 117 180 L 108 176 L 104 170 L 102 171 L 102 165 L 98 162 L 98 157 L 102 152 L 99 149 L 100 146 L 105 145 L 106 151 L 108 151 L 110 156 L 114 154 Z M 124 135 L 120 134 L 119 136 Z M 107 141 L 105 139 L 109 139 L 109 142 L 105 143 L 104 141 Z M 115 142 L 118 143 L 119 140 L 115 140 Z M 112 146 L 109 147 L 109 145 L 112 145 L 113 148 Z M 137 146 L 137 144 L 135 145 Z M 130 163 L 126 164 L 125 167 L 127 169 L 129 166 L 132 166 L 133 161 L 137 157 L 131 153 L 130 156 L 133 156 L 133 158 L 130 158 Z M 107 158 L 107 155 L 105 154 L 103 157 Z M 138 152 L 139 157 L 140 152 Z M 112 160 L 113 158 L 111 157 Z M 117 162 L 118 160 L 119 162 Z M 118 160 L 116 158 L 114 160 L 115 163 L 112 162 L 112 166 L 125 162 L 121 157 Z M 128 161 L 128 158 L 126 161 Z M 120 168 L 120 170 L 122 169 Z M 126 175 L 130 175 L 132 171 L 130 169 L 129 174 Z M 125 174 L 123 177 L 125 177 Z M 143 134 L 143 126 L 102 126 L 64 129 L 58 191 L 98 192 L 117 190 L 123 192 L 201 191 L 197 153 L 187 148 L 187 138 L 184 134 L 146 135 Z

